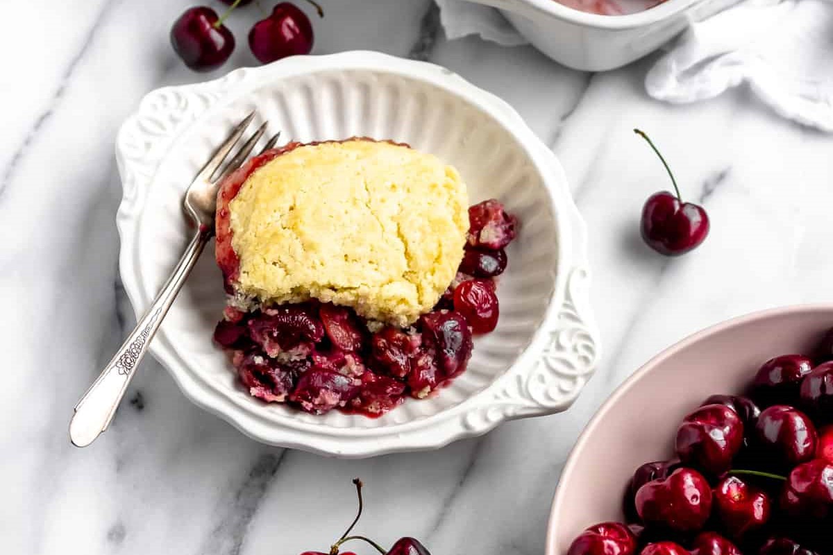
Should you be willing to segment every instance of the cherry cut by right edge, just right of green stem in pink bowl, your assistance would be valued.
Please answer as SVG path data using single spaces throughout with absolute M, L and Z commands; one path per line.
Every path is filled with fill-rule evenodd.
M 781 492 L 781 509 L 813 520 L 833 515 L 833 464 L 816 459 L 793 468 Z

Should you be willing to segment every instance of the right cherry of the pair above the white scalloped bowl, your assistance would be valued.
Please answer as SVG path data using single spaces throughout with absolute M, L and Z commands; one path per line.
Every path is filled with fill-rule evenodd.
M 324 12 L 317 3 L 312 3 L 323 17 Z M 315 35 L 307 14 L 290 2 L 281 2 L 272 8 L 272 13 L 254 24 L 249 31 L 249 47 L 261 63 L 275 62 L 289 56 L 309 54 Z

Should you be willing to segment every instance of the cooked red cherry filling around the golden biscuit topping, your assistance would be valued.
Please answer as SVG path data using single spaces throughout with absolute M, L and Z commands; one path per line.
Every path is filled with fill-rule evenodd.
M 282 153 L 274 152 L 249 164 L 259 167 Z M 239 264 L 227 204 L 252 171 L 232 175 L 220 192 L 217 261 L 227 290 Z M 436 307 L 407 329 L 377 330 L 352 309 L 311 300 L 252 312 L 227 306 L 214 341 L 231 354 L 249 393 L 268 403 L 312 414 L 339 409 L 377 417 L 407 397 L 425 399 L 466 370 L 472 333 L 497 325 L 494 278 L 506 269 L 503 249 L 515 238 L 517 222 L 495 200 L 471 206 L 469 220 L 466 255 L 454 282 Z

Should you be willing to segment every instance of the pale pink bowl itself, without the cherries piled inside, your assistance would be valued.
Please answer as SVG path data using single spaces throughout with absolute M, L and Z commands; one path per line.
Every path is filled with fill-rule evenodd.
M 833 305 L 798 305 L 728 320 L 656 355 L 616 389 L 570 453 L 552 503 L 547 555 L 587 526 L 621 520 L 641 463 L 670 458 L 681 419 L 711 394 L 741 393 L 778 354 L 807 353 L 833 325 Z

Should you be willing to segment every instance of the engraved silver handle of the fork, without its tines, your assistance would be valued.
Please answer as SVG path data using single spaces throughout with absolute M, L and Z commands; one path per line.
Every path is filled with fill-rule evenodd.
M 151 307 L 137 322 L 136 328 L 125 339 L 90 389 L 87 389 L 87 393 L 75 405 L 75 414 L 72 414 L 69 423 L 69 439 L 72 444 L 87 447 L 110 425 L 118 404 L 127 391 L 127 385 L 147 353 L 147 345 L 162 324 L 167 310 L 211 237 L 211 230 L 197 231 Z

